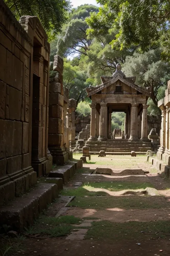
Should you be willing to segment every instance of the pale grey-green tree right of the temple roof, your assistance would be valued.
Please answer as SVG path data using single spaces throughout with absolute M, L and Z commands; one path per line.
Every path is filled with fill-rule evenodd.
M 128 56 L 123 71 L 126 76 L 136 76 L 136 84 L 150 87 L 152 101 L 157 105 L 157 101 L 164 96 L 167 81 L 170 79 L 170 63 L 161 60 L 161 49 Z

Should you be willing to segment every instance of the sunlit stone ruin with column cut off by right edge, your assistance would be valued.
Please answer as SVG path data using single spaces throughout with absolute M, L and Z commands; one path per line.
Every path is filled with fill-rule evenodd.
M 159 100 L 158 107 L 161 109 L 160 147 L 156 158 L 150 158 L 152 164 L 169 177 L 170 173 L 170 81 L 167 83 L 165 98 Z

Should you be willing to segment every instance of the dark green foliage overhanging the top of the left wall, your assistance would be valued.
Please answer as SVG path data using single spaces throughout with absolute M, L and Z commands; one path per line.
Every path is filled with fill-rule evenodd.
M 67 12 L 70 10 L 68 0 L 4 0 L 16 19 L 23 15 L 37 16 L 46 30 L 49 40 L 54 39 L 66 22 Z

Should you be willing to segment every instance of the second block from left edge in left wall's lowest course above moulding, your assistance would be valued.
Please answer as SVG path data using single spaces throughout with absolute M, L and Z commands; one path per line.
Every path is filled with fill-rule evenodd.
M 7 158 L 7 174 L 22 170 L 22 156 Z

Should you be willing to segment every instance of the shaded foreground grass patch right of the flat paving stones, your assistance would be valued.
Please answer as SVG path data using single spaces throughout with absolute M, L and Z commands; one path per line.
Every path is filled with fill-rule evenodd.
M 144 233 L 143 233 L 144 232 Z M 107 220 L 96 221 L 86 234 L 86 239 L 142 239 L 146 235 L 152 238 L 167 238 L 170 235 L 169 221 L 138 222 L 129 221 L 124 223 L 113 223 Z M 169 238 L 169 237 L 168 237 Z

